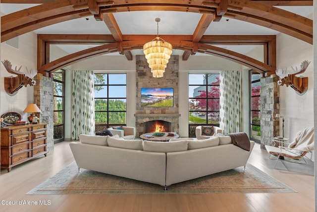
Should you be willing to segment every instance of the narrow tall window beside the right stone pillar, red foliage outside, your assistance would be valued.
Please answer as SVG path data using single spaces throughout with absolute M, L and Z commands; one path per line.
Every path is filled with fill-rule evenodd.
M 251 138 L 254 141 L 261 140 L 261 85 L 260 85 L 260 73 L 251 73 Z

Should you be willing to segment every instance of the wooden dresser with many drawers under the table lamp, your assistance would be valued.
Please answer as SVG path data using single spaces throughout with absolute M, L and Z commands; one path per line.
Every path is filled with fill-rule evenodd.
M 12 125 L 1 128 L 1 168 L 8 172 L 15 165 L 47 154 L 48 123 Z

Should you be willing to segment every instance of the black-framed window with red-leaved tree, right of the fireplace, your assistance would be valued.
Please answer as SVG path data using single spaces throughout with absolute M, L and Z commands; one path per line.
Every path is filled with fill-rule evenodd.
M 189 74 L 189 137 L 199 125 L 219 126 L 219 74 Z

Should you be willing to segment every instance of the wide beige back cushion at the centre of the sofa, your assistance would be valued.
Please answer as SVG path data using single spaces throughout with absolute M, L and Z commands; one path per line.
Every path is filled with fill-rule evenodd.
M 160 142 L 160 141 L 143 141 L 144 151 L 154 152 L 175 152 L 186 151 L 188 141 Z

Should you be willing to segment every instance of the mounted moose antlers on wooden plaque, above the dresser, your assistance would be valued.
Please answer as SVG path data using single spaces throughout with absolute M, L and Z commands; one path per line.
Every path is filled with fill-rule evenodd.
M 12 69 L 12 65 L 10 63 L 10 61 L 8 60 L 4 60 L 1 61 L 4 68 L 6 69 L 6 71 L 8 71 L 9 73 L 12 74 L 16 74 L 17 76 L 9 76 L 9 77 L 4 77 L 4 89 L 5 91 L 10 95 L 13 96 L 14 94 L 16 94 L 16 92 L 23 87 L 23 85 L 26 87 L 28 84 L 29 85 L 35 85 L 35 80 L 32 79 L 36 74 L 37 71 L 31 69 L 30 71 L 28 71 L 28 69 L 26 69 L 27 72 L 21 72 L 21 68 L 22 66 L 16 70 Z

